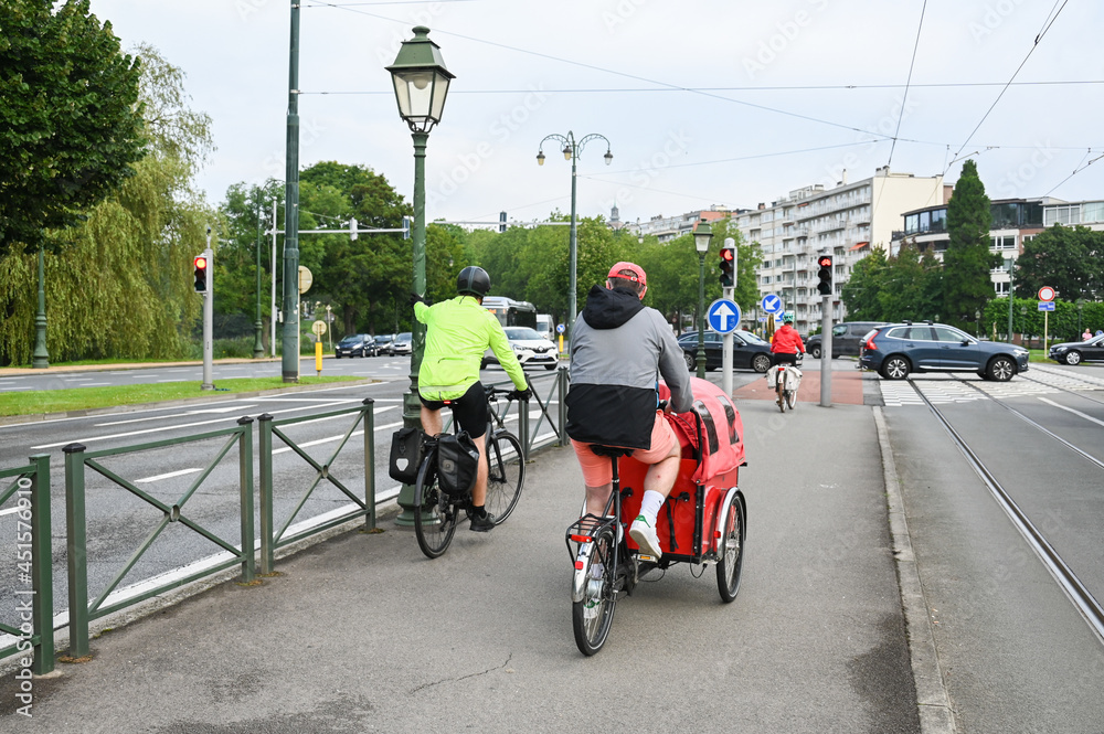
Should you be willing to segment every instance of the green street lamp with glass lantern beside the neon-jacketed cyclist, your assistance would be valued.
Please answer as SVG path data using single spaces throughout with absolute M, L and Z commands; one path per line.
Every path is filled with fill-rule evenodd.
M 448 84 L 456 76 L 445 68 L 440 47 L 429 40 L 429 29 L 414 28 L 414 38 L 403 41 L 395 63 L 388 66 L 395 86 L 399 115 L 410 126 L 414 138 L 414 223 L 411 241 L 414 254 L 414 292 L 425 296 L 425 146 L 429 130 L 440 121 L 448 95 Z M 417 397 L 417 373 L 425 351 L 425 327 L 414 320 L 413 344 L 411 349 L 411 386 L 403 394 L 403 426 L 422 427 L 422 404 Z M 403 485 L 399 491 L 399 504 L 403 508 L 396 522 L 401 525 L 414 524 L 414 487 Z

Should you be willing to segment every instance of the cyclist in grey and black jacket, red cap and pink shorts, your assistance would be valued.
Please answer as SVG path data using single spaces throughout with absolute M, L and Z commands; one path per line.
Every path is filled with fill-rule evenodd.
M 629 535 L 659 557 L 656 517 L 675 486 L 681 450 L 678 437 L 657 408 L 657 381 L 671 391 L 667 409 L 686 413 L 693 404 L 687 370 L 670 326 L 641 304 L 648 290 L 639 265 L 617 263 L 606 287 L 594 286 L 571 334 L 571 389 L 567 435 L 583 470 L 586 511 L 601 515 L 613 489 L 609 459 L 591 444 L 636 449 L 633 458 L 648 468 L 640 515 Z

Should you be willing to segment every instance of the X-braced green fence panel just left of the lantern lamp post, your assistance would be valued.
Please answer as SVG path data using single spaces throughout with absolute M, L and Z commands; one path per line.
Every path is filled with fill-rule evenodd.
M 275 566 L 276 550 L 289 543 L 294 543 L 304 538 L 320 533 L 323 530 L 328 530 L 329 528 L 348 522 L 361 515 L 364 517 L 364 526 L 368 530 L 373 530 L 375 528 L 374 405 L 375 401 L 368 397 L 361 403 L 360 407 L 349 407 L 340 411 L 331 411 L 329 413 L 301 416 L 298 418 L 283 418 L 280 421 L 275 421 L 273 416 L 267 413 L 257 418 L 261 423 L 261 444 L 257 451 L 261 459 L 261 573 L 269 574 L 273 572 Z M 337 448 L 333 449 L 333 453 L 323 464 L 319 464 L 311 458 L 307 451 L 305 451 L 291 438 L 289 438 L 284 430 L 282 430 L 282 428 L 296 423 L 353 414 L 357 415 L 355 421 L 353 421 L 352 425 L 349 426 L 349 429 L 338 443 Z M 364 438 L 364 499 L 357 497 L 338 477 L 335 477 L 330 472 L 330 467 L 333 465 L 335 459 L 337 459 L 346 444 L 349 443 L 349 439 L 357 435 L 357 427 L 362 423 L 363 429 L 361 433 Z M 310 482 L 307 490 L 302 492 L 299 498 L 299 502 L 295 506 L 295 509 L 287 517 L 287 520 L 278 531 L 275 530 L 273 518 L 273 436 L 283 440 L 288 448 L 295 451 L 300 458 L 302 458 L 304 461 L 315 469 L 315 480 Z M 296 515 L 299 514 L 299 510 L 302 509 L 302 506 L 306 504 L 308 499 L 310 499 L 310 496 L 314 493 L 319 482 L 323 479 L 337 487 L 346 497 L 352 500 L 357 504 L 357 508 L 339 518 L 332 518 L 298 533 L 293 533 L 290 535 L 287 534 L 288 528 L 291 526 Z

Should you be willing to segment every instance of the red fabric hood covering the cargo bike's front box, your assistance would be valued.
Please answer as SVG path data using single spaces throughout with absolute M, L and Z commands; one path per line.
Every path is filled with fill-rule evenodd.
M 702 460 L 694 471 L 693 481 L 704 485 L 723 474 L 734 472 L 744 465 L 744 424 L 732 398 L 708 380 L 690 377 L 693 407 L 687 413 L 668 415 L 682 446 L 698 446 L 701 430 Z M 659 383 L 659 400 L 670 400 L 671 391 Z

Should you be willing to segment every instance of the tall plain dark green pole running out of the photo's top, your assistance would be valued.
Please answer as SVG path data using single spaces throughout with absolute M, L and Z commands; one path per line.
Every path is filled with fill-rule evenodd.
M 299 382 L 299 6 L 291 0 L 284 187 L 284 382 Z

